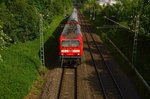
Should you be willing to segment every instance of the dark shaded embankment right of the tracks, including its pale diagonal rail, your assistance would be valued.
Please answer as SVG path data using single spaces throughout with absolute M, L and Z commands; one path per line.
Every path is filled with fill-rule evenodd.
M 106 36 L 106 34 L 102 32 L 99 35 L 101 37 L 103 35 L 103 41 L 107 45 L 111 54 L 118 61 L 118 63 L 121 64 L 122 70 L 128 75 L 130 80 L 134 82 L 141 97 L 148 98 L 150 94 L 149 77 L 148 77 L 149 61 L 147 60 L 149 56 L 147 54 L 149 48 L 145 47 L 146 46 L 145 44 L 142 44 L 142 45 L 139 44 L 139 46 L 143 46 L 141 48 L 145 48 L 145 49 L 141 49 L 138 47 L 139 49 L 137 50 L 138 55 L 137 55 L 137 60 L 136 60 L 137 63 L 136 65 L 133 65 L 131 61 L 133 42 L 130 42 L 131 41 L 130 38 L 132 38 L 133 36 L 125 37 L 126 38 L 126 41 L 125 41 L 123 40 L 123 35 L 120 35 L 120 38 L 122 38 L 122 40 L 120 41 L 118 39 L 115 39 L 116 37 Z M 119 37 L 119 35 L 117 37 Z

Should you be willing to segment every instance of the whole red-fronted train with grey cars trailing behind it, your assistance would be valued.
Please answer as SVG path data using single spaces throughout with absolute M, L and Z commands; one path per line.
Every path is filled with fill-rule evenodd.
M 77 62 L 81 64 L 83 40 L 76 8 L 73 9 L 71 16 L 65 24 L 59 40 L 61 63 Z

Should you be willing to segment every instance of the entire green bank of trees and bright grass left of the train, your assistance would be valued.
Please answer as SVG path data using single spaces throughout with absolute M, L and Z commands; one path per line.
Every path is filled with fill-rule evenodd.
M 0 0 L 0 99 L 24 98 L 37 76 L 44 74 L 39 57 L 40 17 L 44 41 L 51 35 L 55 38 L 64 5 L 70 14 L 71 0 Z M 34 91 L 34 96 L 40 93 Z

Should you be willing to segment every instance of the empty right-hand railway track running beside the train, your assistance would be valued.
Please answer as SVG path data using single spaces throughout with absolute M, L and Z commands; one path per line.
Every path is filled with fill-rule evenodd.
M 104 99 L 124 99 L 119 85 L 117 84 L 115 77 L 108 67 L 104 59 L 104 53 L 100 50 L 100 46 L 91 33 L 89 24 L 83 19 L 83 15 L 79 13 L 80 24 L 82 27 L 83 36 L 86 38 L 89 51 L 93 60 L 94 68 L 101 86 Z M 94 54 L 99 53 L 99 54 Z M 96 61 L 96 58 L 100 58 L 100 61 Z

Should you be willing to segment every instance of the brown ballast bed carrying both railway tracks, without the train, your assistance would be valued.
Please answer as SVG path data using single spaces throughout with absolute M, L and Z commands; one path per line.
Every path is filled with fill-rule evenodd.
M 62 58 L 58 65 L 61 68 L 57 66 L 49 71 L 38 99 L 139 99 L 134 90 L 129 90 L 132 87 L 126 85 L 127 79 L 118 68 L 113 68 L 113 60 L 81 13 L 79 23 L 84 42 L 82 64 L 77 67 L 71 63 L 68 68 L 69 63 L 63 63 Z

